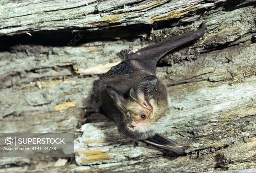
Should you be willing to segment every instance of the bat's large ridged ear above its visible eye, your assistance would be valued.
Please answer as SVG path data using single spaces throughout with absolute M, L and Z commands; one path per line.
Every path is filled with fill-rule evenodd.
M 148 75 L 142 77 L 130 90 L 130 96 L 141 106 L 152 109 L 149 99 L 153 97 L 157 84 L 157 77 Z

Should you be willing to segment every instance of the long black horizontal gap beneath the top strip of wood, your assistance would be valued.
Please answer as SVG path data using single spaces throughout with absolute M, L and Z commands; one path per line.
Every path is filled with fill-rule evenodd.
M 172 19 L 167 21 L 158 21 L 157 30 L 163 28 L 172 28 L 173 26 L 178 25 L 178 19 Z M 118 23 L 111 24 L 111 26 L 118 25 Z M 184 23 L 185 25 L 185 23 Z M 189 25 L 187 23 L 186 25 Z M 130 26 L 121 26 L 115 28 L 99 28 L 95 31 L 89 31 L 87 28 L 67 28 L 62 30 L 42 30 L 42 31 L 27 31 L 31 34 L 28 35 L 26 33 L 17 34 L 14 36 L 2 36 L 0 37 L 0 52 L 8 51 L 11 52 L 13 50 L 13 46 L 15 45 L 42 45 L 42 46 L 72 46 L 78 47 L 81 44 L 95 42 L 95 41 L 115 41 L 118 39 L 126 39 L 133 40 L 135 38 L 140 38 L 141 34 L 150 34 L 153 25 L 148 24 L 134 24 Z M 156 29 L 156 28 L 155 28 Z M 73 32 L 72 30 L 77 30 Z M 80 35 L 80 37 L 78 36 Z M 76 37 L 77 41 L 73 41 L 74 44 L 71 43 L 71 40 L 74 40 Z M 79 39 L 79 40 L 78 40 Z

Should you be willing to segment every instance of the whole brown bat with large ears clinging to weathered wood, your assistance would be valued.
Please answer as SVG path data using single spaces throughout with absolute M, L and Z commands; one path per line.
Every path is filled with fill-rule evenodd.
M 167 88 L 156 77 L 156 63 L 172 49 L 202 37 L 204 28 L 205 22 L 199 30 L 166 39 L 135 53 L 121 51 L 118 55 L 123 62 L 100 76 L 105 81 L 100 93 L 101 110 L 116 123 L 119 132 L 177 154 L 184 153 L 185 147 L 158 133 L 168 123 L 168 117 L 174 115 L 170 112 Z

